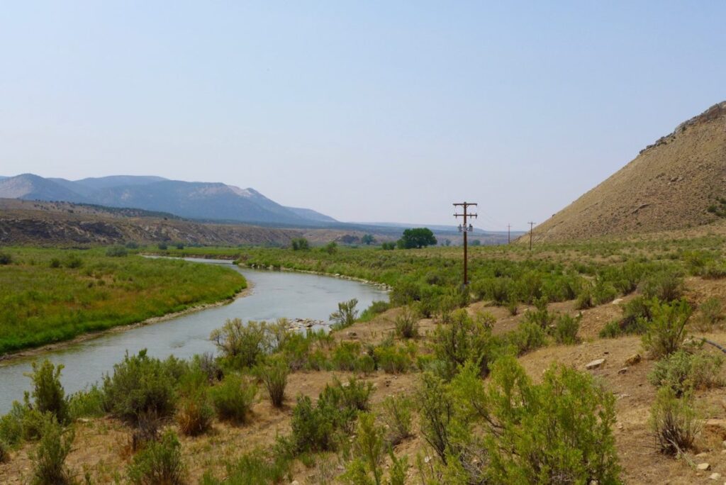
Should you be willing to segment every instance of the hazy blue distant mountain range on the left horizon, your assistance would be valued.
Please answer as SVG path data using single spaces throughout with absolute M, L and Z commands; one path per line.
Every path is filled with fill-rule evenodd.
M 0 198 L 140 208 L 206 221 L 302 227 L 338 223 L 311 209 L 280 205 L 255 189 L 159 176 L 117 175 L 73 181 L 34 174 L 0 176 Z

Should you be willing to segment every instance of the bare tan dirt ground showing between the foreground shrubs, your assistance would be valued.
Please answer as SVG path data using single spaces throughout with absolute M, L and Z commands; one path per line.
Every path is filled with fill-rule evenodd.
M 706 298 L 716 296 L 726 301 L 726 280 L 687 280 L 688 299 L 700 303 Z M 627 297 L 627 298 L 632 298 Z M 647 359 L 637 336 L 615 339 L 597 337 L 599 330 L 612 319 L 621 315 L 621 306 L 627 298 L 614 303 L 605 303 L 593 309 L 582 311 L 580 337 L 582 343 L 574 346 L 547 346 L 533 351 L 520 358 L 520 362 L 535 381 L 542 376 L 543 370 L 552 362 L 572 366 L 584 372 L 592 372 L 602 380 L 616 396 L 617 423 L 614 434 L 616 447 L 623 468 L 622 478 L 628 484 L 693 484 L 719 483 L 709 479 L 711 473 L 720 473 L 726 477 L 726 448 L 722 441 L 726 439 L 726 388 L 710 391 L 699 391 L 696 396 L 699 412 L 705 420 L 701 435 L 698 437 L 698 450 L 688 457 L 679 460 L 659 454 L 650 436 L 648 417 L 650 406 L 656 395 L 656 388 L 648 383 L 648 372 L 653 361 Z M 513 330 L 519 319 L 528 309 L 521 307 L 516 316 L 510 316 L 507 309 L 487 306 L 486 303 L 475 303 L 469 311 L 489 311 L 497 318 L 494 333 Z M 577 314 L 574 302 L 553 303 L 550 310 L 560 313 Z M 335 333 L 339 340 L 377 343 L 393 331 L 394 320 L 400 309 L 392 309 L 373 319 L 371 322 L 355 325 Z M 698 314 L 693 316 L 697 319 Z M 420 321 L 420 348 L 428 347 L 426 335 L 436 327 L 432 319 Z M 693 331 L 693 329 L 692 329 Z M 719 343 L 726 343 L 726 330 L 715 329 L 709 333 L 697 333 Z M 709 350 L 711 351 L 711 350 Z M 712 351 L 717 351 L 713 349 Z M 640 354 L 643 359 L 637 364 L 628 365 L 629 357 Z M 605 359 L 602 367 L 586 371 L 585 364 L 594 359 Z M 266 447 L 272 444 L 277 436 L 290 431 L 290 419 L 294 396 L 304 394 L 316 399 L 319 392 L 333 378 L 345 380 L 351 375 L 348 372 L 295 372 L 290 375 L 287 386 L 287 405 L 275 409 L 269 404 L 262 393 L 253 407 L 252 416 L 247 425 L 229 425 L 215 422 L 213 431 L 203 436 L 182 437 L 184 459 L 189 468 L 189 483 L 197 483 L 205 470 L 212 470 L 216 476 L 224 476 L 225 464 L 234 460 L 242 452 Z M 723 375 L 726 379 L 726 373 Z M 416 374 L 388 375 L 376 372 L 362 376 L 375 386 L 372 396 L 373 406 L 388 395 L 411 394 L 416 386 Z M 174 424 L 171 424 L 174 426 Z M 68 457 L 68 465 L 83 478 L 84 473 L 94 479 L 94 483 L 105 484 L 119 481 L 123 483 L 126 465 L 129 463 L 129 437 L 131 430 L 113 418 L 81 420 L 75 425 L 76 441 L 73 451 Z M 396 455 L 409 456 L 409 482 L 420 483 L 413 467 L 415 456 L 422 452 L 424 456 L 431 453 L 417 431 L 414 423 L 415 436 L 396 447 Z M 0 464 L 0 483 L 26 484 L 30 481 L 32 464 L 30 453 L 35 444 L 25 444 L 21 449 L 11 453 L 9 462 Z M 711 469 L 698 471 L 695 465 L 708 462 Z M 342 464 L 336 455 L 323 455 L 306 467 L 296 463 L 293 478 L 298 484 L 317 484 L 338 475 Z M 725 481 L 722 478 L 720 482 Z

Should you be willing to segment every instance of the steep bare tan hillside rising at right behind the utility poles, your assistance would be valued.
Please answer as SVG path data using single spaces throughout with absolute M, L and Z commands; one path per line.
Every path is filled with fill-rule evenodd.
M 538 241 L 639 235 L 726 217 L 726 102 L 672 134 L 535 228 Z

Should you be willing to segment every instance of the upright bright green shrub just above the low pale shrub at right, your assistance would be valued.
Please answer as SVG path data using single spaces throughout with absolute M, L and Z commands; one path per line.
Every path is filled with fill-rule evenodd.
M 680 349 L 685 339 L 685 324 L 691 309 L 685 300 L 672 303 L 653 302 L 652 319 L 645 325 L 643 347 L 656 359 Z

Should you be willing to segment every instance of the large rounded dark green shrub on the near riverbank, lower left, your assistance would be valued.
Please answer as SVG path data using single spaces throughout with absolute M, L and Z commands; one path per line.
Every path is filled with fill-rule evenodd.
M 106 409 L 131 422 L 149 413 L 159 417 L 171 415 L 176 401 L 176 379 L 169 367 L 148 356 L 146 349 L 135 356 L 126 353 L 122 362 L 114 364 L 113 375 L 103 378 Z

